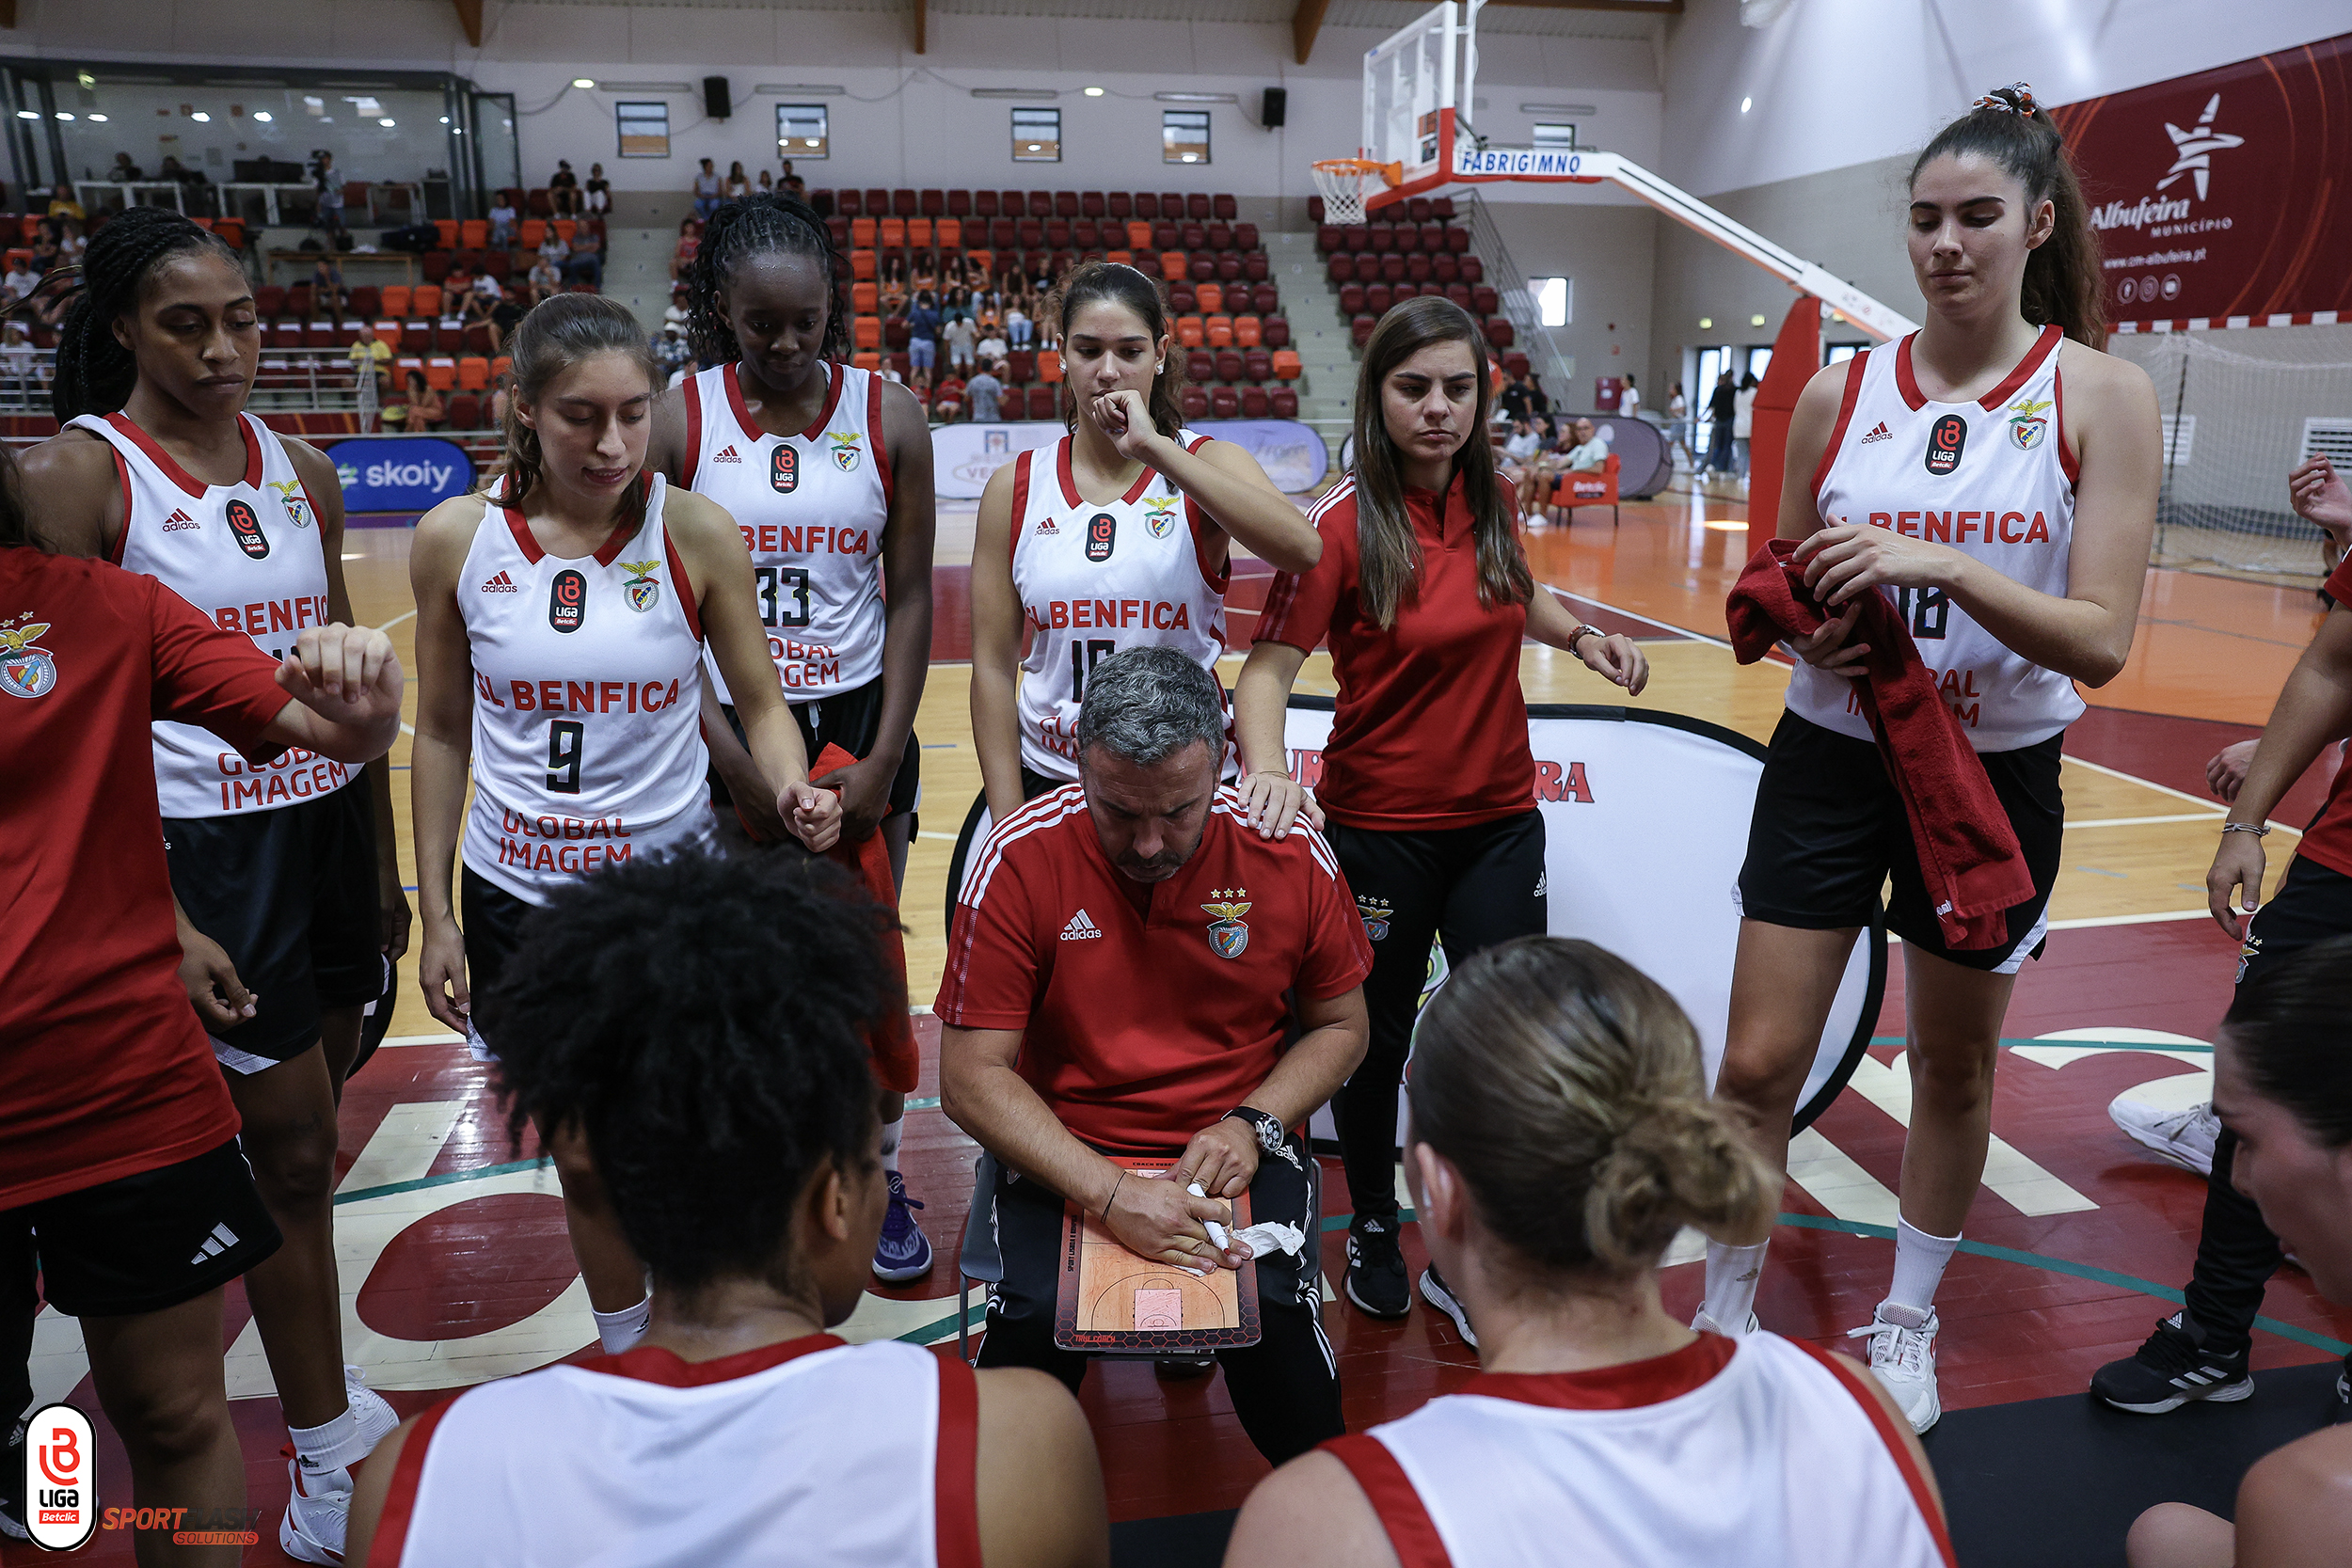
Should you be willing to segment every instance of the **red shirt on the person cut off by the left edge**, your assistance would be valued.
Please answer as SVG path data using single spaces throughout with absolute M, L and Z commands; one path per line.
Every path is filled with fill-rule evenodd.
M 148 724 L 254 759 L 273 663 L 151 576 L 0 548 L 0 1211 L 238 1131 L 179 983 Z

